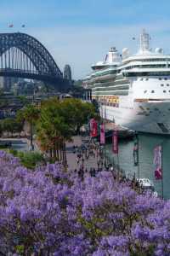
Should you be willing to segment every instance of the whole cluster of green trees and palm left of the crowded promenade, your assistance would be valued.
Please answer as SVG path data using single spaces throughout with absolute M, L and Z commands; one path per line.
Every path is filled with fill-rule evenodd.
M 42 151 L 47 151 L 54 160 L 64 161 L 65 143 L 71 141 L 71 137 L 78 134 L 81 126 L 91 117 L 99 118 L 93 104 L 55 97 L 42 102 L 41 107 L 29 105 L 17 114 L 20 123 L 26 121 L 30 124 L 31 148 L 34 130 Z

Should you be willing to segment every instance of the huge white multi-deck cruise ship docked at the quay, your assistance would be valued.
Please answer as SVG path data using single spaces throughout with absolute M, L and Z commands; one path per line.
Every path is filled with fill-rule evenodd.
M 99 102 L 103 118 L 134 131 L 170 134 L 170 55 L 150 49 L 150 35 L 139 35 L 139 51 L 115 47 L 83 79 Z

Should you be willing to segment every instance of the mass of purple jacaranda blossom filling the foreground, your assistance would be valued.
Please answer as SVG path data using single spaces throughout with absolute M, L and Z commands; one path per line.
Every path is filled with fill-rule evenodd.
M 82 181 L 58 164 L 35 171 L 0 151 L 0 254 L 170 255 L 170 202 L 111 172 Z

